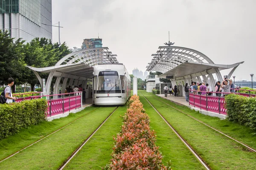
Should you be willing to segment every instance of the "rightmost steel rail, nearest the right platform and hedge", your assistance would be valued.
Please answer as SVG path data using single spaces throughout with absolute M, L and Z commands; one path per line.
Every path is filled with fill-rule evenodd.
M 140 93 L 141 93 L 141 92 L 140 92 Z M 152 97 L 154 97 L 154 96 L 152 96 Z M 157 98 L 156 98 L 156 97 L 154 97 L 154 99 L 157 99 Z M 159 99 L 157 99 L 157 100 L 158 100 L 158 101 L 160 101 L 160 102 L 163 102 L 162 100 L 159 100 Z M 169 107 L 171 107 L 171 108 L 175 109 L 176 111 L 179 111 L 180 113 L 183 113 L 183 114 L 185 114 L 185 115 L 187 115 L 187 116 L 191 117 L 192 119 L 195 119 L 196 121 L 198 121 L 198 122 L 200 122 L 200 123 L 202 123 L 202 124 L 206 125 L 207 127 L 210 127 L 211 129 L 213 129 L 213 130 L 217 131 L 218 133 L 221 133 L 222 135 L 224 135 L 224 136 L 226 136 L 226 137 L 228 137 L 228 138 L 230 138 L 230 139 L 232 139 L 232 140 L 236 141 L 237 143 L 239 143 L 239 144 L 243 145 L 244 147 L 246 147 L 246 148 L 247 148 L 248 150 L 250 150 L 251 152 L 256 152 L 256 149 L 253 149 L 252 147 L 248 146 L 247 144 L 244 144 L 243 142 L 240 142 L 239 140 L 234 139 L 234 138 L 233 138 L 233 137 L 231 137 L 231 136 L 228 136 L 227 134 L 225 134 L 225 133 L 221 132 L 220 130 L 218 130 L 218 129 L 216 129 L 216 128 L 214 128 L 214 127 L 212 127 L 212 126 L 210 126 L 210 125 L 208 125 L 208 124 L 206 124 L 206 123 L 204 123 L 204 122 L 202 122 L 201 120 L 196 119 L 195 117 L 193 117 L 193 116 L 191 116 L 191 115 L 189 115 L 189 114 L 187 114 L 187 113 L 185 113 L 185 112 L 181 111 L 181 110 L 180 110 L 180 109 L 178 109 L 178 108 L 175 108 L 175 107 L 173 107 L 173 106 L 169 105 L 169 104 L 168 104 L 168 103 L 166 103 L 166 102 L 163 102 L 163 103 L 164 103 L 164 104 L 166 104 L 166 105 L 168 105 Z

